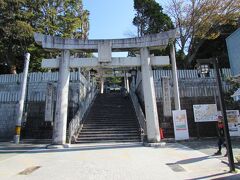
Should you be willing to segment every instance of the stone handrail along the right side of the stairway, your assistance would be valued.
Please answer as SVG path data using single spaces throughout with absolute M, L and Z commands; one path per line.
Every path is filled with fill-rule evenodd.
M 132 89 L 130 90 L 129 94 L 130 94 L 130 97 L 131 97 L 131 100 L 133 103 L 135 113 L 137 115 L 138 123 L 141 128 L 141 136 L 142 136 L 142 140 L 143 140 L 144 136 L 147 135 L 146 119 L 143 114 L 142 108 L 138 102 L 138 98 Z

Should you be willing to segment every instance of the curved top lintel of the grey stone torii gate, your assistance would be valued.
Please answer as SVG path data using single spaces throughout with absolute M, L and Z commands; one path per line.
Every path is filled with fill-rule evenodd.
M 100 43 L 110 43 L 112 51 L 128 50 L 131 48 L 142 47 L 161 47 L 165 48 L 169 41 L 176 37 L 176 30 L 170 30 L 157 34 L 146 35 L 143 37 L 126 38 L 126 39 L 101 39 L 101 40 L 79 40 L 79 39 L 63 39 L 57 36 L 34 34 L 36 43 L 42 45 L 44 49 L 80 49 L 91 50 L 97 52 Z

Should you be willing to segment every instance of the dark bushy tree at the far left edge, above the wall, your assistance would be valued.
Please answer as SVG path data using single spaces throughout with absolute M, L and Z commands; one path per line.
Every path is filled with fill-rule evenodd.
M 33 33 L 23 13 L 24 3 L 24 0 L 0 1 L 0 58 L 11 67 L 13 73 L 17 59 L 22 60 L 22 52 L 26 51 Z

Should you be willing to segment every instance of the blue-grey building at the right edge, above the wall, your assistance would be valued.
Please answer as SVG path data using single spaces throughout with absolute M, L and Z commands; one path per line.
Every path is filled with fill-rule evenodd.
M 240 28 L 228 36 L 226 41 L 232 76 L 240 79 Z

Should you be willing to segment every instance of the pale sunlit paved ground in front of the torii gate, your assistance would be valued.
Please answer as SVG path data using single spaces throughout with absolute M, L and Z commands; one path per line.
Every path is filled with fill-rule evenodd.
M 1 144 L 0 150 L 7 152 L 11 146 Z M 35 149 L 29 151 L 31 146 Z M 26 151 L 19 154 L 21 147 Z M 15 147 L 15 152 L 11 151 L 14 156 L 0 160 L 0 179 L 240 179 L 240 174 L 228 173 L 228 166 L 220 159 L 178 143 L 167 143 L 163 148 L 140 143 L 73 145 L 62 150 L 43 147 Z

